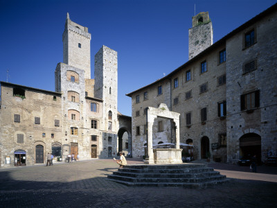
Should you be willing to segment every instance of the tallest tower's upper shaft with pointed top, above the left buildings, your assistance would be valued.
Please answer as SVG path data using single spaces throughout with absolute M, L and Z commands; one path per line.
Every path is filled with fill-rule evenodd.
M 89 29 L 80 26 L 71 19 L 67 13 L 64 33 L 62 34 L 64 45 L 64 64 L 69 64 L 85 71 L 84 78 L 91 78 L 91 34 Z

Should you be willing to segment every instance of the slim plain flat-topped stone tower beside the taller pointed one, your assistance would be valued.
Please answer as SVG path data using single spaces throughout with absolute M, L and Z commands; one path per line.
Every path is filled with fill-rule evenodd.
M 104 101 L 103 118 L 105 130 L 115 132 L 118 128 L 117 121 L 117 52 L 107 46 L 96 53 L 94 57 L 94 96 Z M 111 123 L 110 123 L 111 122 Z M 112 128 L 109 129 L 109 125 Z

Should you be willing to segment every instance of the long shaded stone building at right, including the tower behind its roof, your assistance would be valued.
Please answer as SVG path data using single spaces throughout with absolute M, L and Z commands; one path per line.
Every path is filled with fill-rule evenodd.
M 180 142 L 193 144 L 195 159 L 276 159 L 276 21 L 277 4 L 213 44 L 208 12 L 193 17 L 188 62 L 127 94 L 134 157 L 145 155 L 147 108 L 165 103 L 180 114 Z M 157 119 L 153 145 L 175 143 L 174 132 L 172 121 Z

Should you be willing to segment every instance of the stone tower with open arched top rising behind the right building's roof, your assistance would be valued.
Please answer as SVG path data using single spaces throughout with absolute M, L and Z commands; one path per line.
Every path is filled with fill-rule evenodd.
M 193 28 L 188 30 L 188 59 L 195 57 L 213 44 L 213 25 L 208 12 L 193 17 Z

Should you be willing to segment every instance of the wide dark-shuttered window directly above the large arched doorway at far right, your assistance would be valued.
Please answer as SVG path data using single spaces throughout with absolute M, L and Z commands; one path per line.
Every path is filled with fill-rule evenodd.
M 255 107 L 260 107 L 260 90 L 240 96 L 241 110 L 251 110 Z

